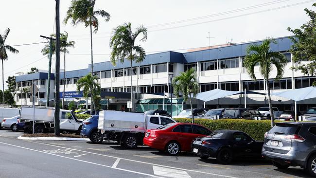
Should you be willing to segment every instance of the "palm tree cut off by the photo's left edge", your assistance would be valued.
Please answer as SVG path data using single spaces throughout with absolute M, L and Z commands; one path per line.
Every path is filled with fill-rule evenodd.
M 3 75 L 3 61 L 8 60 L 8 54 L 7 50 L 9 50 L 11 53 L 18 53 L 18 50 L 13 48 L 12 46 L 6 45 L 5 40 L 8 37 L 10 33 L 10 29 L 7 28 L 4 31 L 4 34 L 0 34 L 0 59 L 2 61 L 2 103 L 4 103 L 4 75 Z

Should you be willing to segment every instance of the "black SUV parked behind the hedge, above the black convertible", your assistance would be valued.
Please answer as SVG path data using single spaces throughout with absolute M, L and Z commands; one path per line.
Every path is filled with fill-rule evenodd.
M 263 115 L 251 108 L 226 108 L 223 113 L 223 119 L 254 119 L 255 117 L 263 117 Z

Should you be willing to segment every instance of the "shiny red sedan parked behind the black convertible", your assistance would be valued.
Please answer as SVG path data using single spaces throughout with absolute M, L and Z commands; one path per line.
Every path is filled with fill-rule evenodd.
M 146 130 L 144 144 L 177 155 L 180 151 L 191 151 L 191 143 L 196 137 L 205 137 L 211 130 L 197 124 L 170 123 L 158 129 Z

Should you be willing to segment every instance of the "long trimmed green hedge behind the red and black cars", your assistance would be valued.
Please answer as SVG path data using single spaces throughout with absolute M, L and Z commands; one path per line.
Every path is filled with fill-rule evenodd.
M 179 123 L 192 123 L 192 119 L 188 118 L 177 118 L 175 120 Z M 258 141 L 263 141 L 264 133 L 271 128 L 270 120 L 255 121 L 245 119 L 194 119 L 194 123 L 204 125 L 210 128 L 212 131 L 219 129 L 240 130 Z

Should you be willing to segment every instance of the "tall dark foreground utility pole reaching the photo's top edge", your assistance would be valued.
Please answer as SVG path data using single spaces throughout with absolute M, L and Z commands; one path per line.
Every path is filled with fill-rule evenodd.
M 55 9 L 55 21 L 56 21 L 56 63 L 55 63 L 55 135 L 59 133 L 59 61 L 60 61 L 60 29 L 59 29 L 59 0 L 56 0 Z

